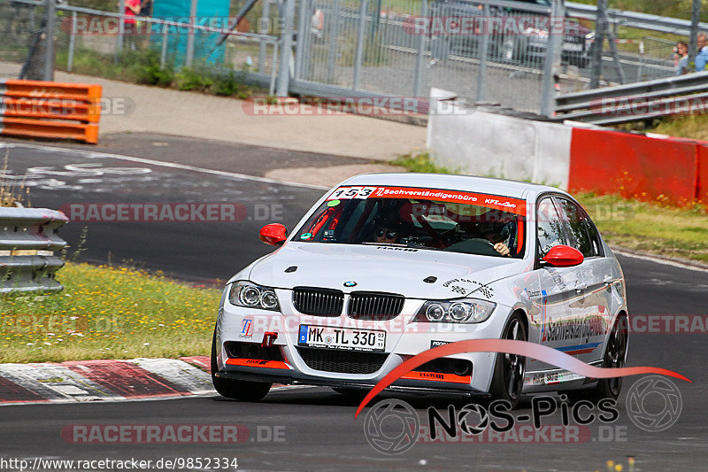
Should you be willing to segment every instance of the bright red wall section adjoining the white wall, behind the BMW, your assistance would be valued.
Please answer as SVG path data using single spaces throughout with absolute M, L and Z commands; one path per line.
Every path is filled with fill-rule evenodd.
M 685 203 L 696 198 L 697 148 L 704 146 L 688 140 L 573 128 L 568 188 L 643 200 L 664 195 L 674 203 Z M 708 149 L 704 150 L 708 159 Z

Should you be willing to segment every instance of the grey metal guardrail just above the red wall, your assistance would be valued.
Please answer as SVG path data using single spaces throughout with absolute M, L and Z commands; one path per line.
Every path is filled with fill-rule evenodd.
M 611 125 L 708 109 L 708 72 L 556 97 L 556 118 Z

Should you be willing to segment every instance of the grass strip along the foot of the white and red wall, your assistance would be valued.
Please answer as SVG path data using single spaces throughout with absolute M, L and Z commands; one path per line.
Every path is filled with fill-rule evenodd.
M 406 154 L 391 164 L 410 172 L 456 174 L 436 166 L 427 152 Z M 575 197 L 608 244 L 708 263 L 708 212 L 704 206 L 677 208 L 592 193 Z

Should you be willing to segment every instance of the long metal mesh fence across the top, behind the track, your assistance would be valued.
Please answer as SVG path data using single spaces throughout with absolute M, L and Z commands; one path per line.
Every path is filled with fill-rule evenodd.
M 589 85 L 592 24 L 554 13 L 550 0 L 259 0 L 219 45 L 246 1 L 231 2 L 231 17 L 171 18 L 153 8 L 122 27 L 117 6 L 58 4 L 56 67 L 159 84 L 189 66 L 195 81 L 207 70 L 246 74 L 273 93 L 285 66 L 295 93 L 418 99 L 435 87 L 536 113 L 555 94 Z M 283 51 L 287 2 L 296 2 L 293 46 Z M 25 78 L 46 66 L 46 17 L 43 0 L 0 0 L 0 60 L 22 64 Z M 653 36 L 608 38 L 601 85 L 671 76 L 672 50 Z

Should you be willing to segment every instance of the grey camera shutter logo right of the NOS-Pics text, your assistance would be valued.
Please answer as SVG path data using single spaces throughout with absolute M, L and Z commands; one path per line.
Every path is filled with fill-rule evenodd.
M 657 404 L 658 409 L 652 408 Z M 643 377 L 627 392 L 627 415 L 639 429 L 656 433 L 669 429 L 681 416 L 681 392 L 660 375 Z

